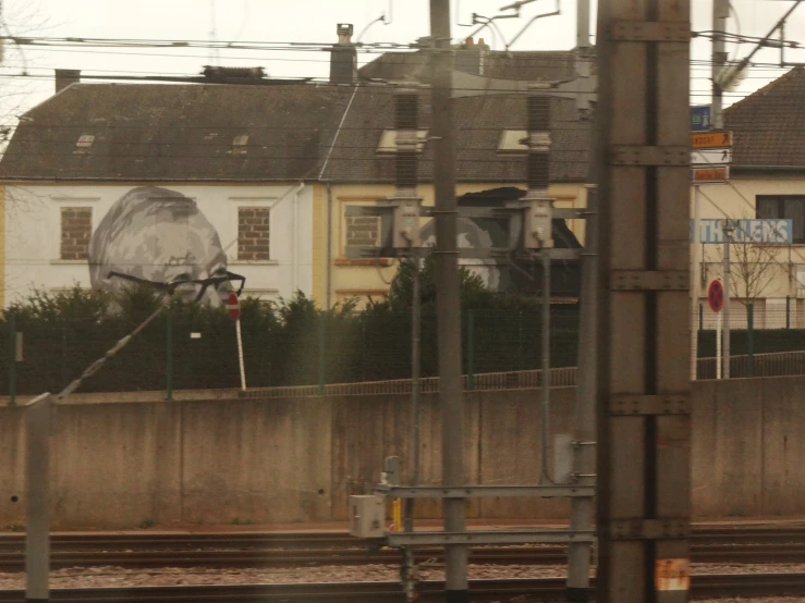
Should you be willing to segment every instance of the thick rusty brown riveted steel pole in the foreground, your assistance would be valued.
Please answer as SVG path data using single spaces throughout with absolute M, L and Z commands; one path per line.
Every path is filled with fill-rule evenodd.
M 598 603 L 690 592 L 690 15 L 598 5 Z

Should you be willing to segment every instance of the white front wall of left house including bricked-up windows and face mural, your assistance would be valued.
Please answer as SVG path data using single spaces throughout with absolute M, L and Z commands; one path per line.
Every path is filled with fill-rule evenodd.
M 185 274 L 205 279 L 223 268 L 245 278 L 245 295 L 275 299 L 297 290 L 310 295 L 309 185 L 32 183 L 5 188 L 5 304 L 34 287 L 53 292 L 97 285 L 90 280 L 89 243 L 110 208 L 137 190 L 151 201 L 159 201 L 162 192 L 176 193 L 195 204 L 197 219 L 167 222 L 144 214 L 118 224 L 138 241 L 113 241 L 120 251 L 107 268 L 131 273 L 134 259 L 136 276 L 160 282 Z M 211 227 L 210 237 L 198 236 L 198 221 Z M 223 263 L 216 257 L 221 253 Z M 192 261 L 181 261 L 183 254 Z M 170 268 L 166 272 L 171 266 L 173 273 Z

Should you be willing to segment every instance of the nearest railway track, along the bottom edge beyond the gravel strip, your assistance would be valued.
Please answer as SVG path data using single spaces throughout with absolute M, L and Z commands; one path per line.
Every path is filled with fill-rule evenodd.
M 441 601 L 444 584 L 424 582 L 423 603 Z M 561 578 L 532 580 L 471 580 L 473 602 L 551 601 L 563 594 Z M 785 596 L 805 594 L 805 574 L 700 575 L 692 580 L 694 599 L 710 596 Z M 197 603 L 227 601 L 317 601 L 339 603 L 395 603 L 404 601 L 401 587 L 393 582 L 333 582 L 300 584 L 239 584 L 203 587 L 135 587 L 98 589 L 56 589 L 51 601 L 70 603 Z M 0 603 L 25 601 L 23 591 L 0 591 Z

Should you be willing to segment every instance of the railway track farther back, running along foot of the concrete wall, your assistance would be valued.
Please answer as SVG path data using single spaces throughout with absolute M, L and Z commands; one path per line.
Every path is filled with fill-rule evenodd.
M 805 563 L 805 528 L 698 530 L 692 536 L 692 561 L 721 564 Z M 24 569 L 24 540 L 0 537 L 0 571 Z M 439 547 L 419 547 L 417 562 L 442 561 Z M 564 565 L 563 546 L 476 546 L 471 563 L 499 565 Z M 51 567 L 310 567 L 401 562 L 392 549 L 370 549 L 343 533 L 220 533 L 78 536 L 57 534 Z

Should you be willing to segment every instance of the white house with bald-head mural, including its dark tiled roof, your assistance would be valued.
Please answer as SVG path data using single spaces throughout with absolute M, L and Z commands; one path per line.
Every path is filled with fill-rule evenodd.
M 22 118 L 0 162 L 5 305 L 32 287 L 114 288 L 111 271 L 170 281 L 229 270 L 264 299 L 316 293 L 324 200 L 310 183 L 349 89 L 69 75 Z

